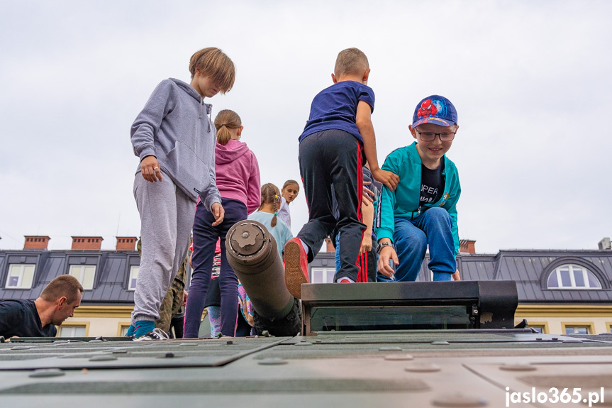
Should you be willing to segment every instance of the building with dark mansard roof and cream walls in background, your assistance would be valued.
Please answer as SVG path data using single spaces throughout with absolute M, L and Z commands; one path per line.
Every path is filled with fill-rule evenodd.
M 91 236 L 73 237 L 70 250 L 47 250 L 49 239 L 26 236 L 23 250 L 0 250 L 0 299 L 35 299 L 54 277 L 74 275 L 85 292 L 58 336 L 122 336 L 130 324 L 138 280 L 136 238 L 117 237 L 116 250 L 101 250 L 102 238 Z M 473 253 L 474 241 L 462 244 L 462 250 L 470 250 L 457 255 L 462 280 L 516 281 L 517 324 L 526 319 L 543 333 L 612 332 L 612 250 L 500 250 L 487 255 Z M 334 256 L 333 247 L 316 256 L 309 265 L 311 282 L 333 282 Z M 419 281 L 431 280 L 428 261 L 426 255 Z

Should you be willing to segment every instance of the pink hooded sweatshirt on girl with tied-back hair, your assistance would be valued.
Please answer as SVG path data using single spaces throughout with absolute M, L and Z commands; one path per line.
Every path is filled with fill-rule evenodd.
M 260 167 L 246 143 L 230 139 L 215 146 L 215 172 L 221 198 L 237 199 L 251 214 L 261 204 Z

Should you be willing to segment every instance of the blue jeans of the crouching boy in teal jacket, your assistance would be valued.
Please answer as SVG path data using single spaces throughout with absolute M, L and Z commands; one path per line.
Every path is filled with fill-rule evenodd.
M 452 280 L 451 275 L 457 270 L 457 261 L 455 241 L 452 238 L 452 218 L 445 209 L 430 208 L 413 220 L 397 217 L 393 241 L 399 259 L 395 271 L 398 282 L 416 280 L 418 272 L 421 272 L 427 246 L 430 255 L 427 266 L 433 272 L 433 280 Z

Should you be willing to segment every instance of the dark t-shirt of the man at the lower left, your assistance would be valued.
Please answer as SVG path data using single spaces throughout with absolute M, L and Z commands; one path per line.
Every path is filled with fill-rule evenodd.
M 55 337 L 52 324 L 43 327 L 33 300 L 3 300 L 0 302 L 0 336 Z

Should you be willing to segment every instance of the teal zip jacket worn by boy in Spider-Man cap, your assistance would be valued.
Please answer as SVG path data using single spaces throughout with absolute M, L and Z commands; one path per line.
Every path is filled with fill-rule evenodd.
M 374 224 L 376 237 L 393 240 L 396 217 L 415 219 L 418 215 L 433 206 L 441 206 L 452 218 L 452 237 L 455 241 L 455 255 L 459 253 L 459 230 L 457 229 L 457 201 L 461 194 L 459 173 L 455 163 L 446 155 L 444 159 L 444 192 L 438 202 L 420 205 L 421 198 L 421 157 L 416 150 L 416 142 L 404 148 L 391 152 L 384 160 L 383 170 L 389 170 L 399 175 L 399 184 L 394 192 L 384 186 L 382 196 L 377 206 L 376 222 Z

